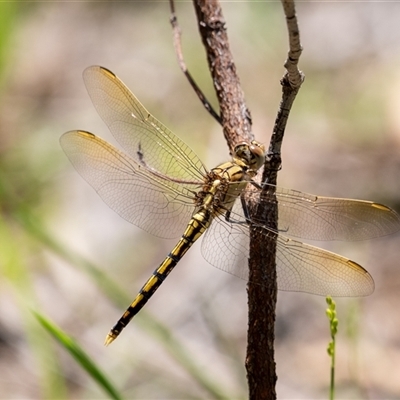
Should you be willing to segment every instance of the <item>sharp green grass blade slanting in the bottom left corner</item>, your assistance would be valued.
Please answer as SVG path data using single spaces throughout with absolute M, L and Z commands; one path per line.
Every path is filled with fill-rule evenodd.
M 76 362 L 81 365 L 81 367 L 112 399 L 122 400 L 121 394 L 74 339 L 68 336 L 43 315 L 35 311 L 33 313 L 43 328 L 71 354 Z

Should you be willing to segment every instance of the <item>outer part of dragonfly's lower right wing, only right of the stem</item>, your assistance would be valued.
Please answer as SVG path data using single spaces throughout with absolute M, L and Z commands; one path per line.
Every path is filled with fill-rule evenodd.
M 278 289 L 321 296 L 367 296 L 374 291 L 371 275 L 338 254 L 278 236 Z

